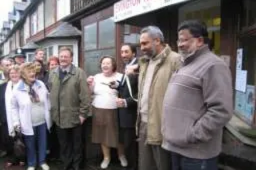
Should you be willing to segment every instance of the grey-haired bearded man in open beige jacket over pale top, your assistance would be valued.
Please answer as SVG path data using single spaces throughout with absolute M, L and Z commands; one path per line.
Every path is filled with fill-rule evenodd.
M 138 121 L 139 169 L 169 170 L 170 154 L 161 148 L 161 115 L 169 78 L 180 65 L 180 55 L 164 44 L 161 30 L 149 26 L 141 31 Z

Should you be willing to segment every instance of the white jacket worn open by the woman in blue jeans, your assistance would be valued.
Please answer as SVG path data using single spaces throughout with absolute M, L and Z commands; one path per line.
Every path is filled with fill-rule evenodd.
M 45 120 L 48 129 L 52 126 L 51 116 L 49 112 L 49 99 L 48 90 L 45 84 L 39 80 L 36 80 L 32 88 L 39 95 L 39 99 L 42 99 L 45 106 Z M 21 131 L 24 135 L 34 135 L 33 125 L 31 120 L 31 100 L 28 94 L 28 87 L 24 81 L 20 81 L 16 90 L 13 92 L 11 100 L 11 112 L 13 126 L 20 125 Z

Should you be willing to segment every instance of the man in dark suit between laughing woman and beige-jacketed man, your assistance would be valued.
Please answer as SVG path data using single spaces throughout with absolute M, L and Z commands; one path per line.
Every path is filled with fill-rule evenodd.
M 125 69 L 130 65 L 137 64 L 136 46 L 123 44 L 121 47 L 121 57 L 125 64 Z M 118 87 L 119 98 L 118 118 L 119 118 L 119 142 L 123 144 L 125 156 L 127 158 L 127 169 L 137 169 L 137 143 L 135 124 L 137 119 L 137 93 L 138 74 L 123 76 Z

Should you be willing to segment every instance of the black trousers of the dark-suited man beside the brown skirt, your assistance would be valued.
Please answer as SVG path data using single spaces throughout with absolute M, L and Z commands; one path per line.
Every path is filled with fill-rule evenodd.
M 128 168 L 135 170 L 138 164 L 138 143 L 135 128 L 119 128 L 119 142 L 124 144 Z

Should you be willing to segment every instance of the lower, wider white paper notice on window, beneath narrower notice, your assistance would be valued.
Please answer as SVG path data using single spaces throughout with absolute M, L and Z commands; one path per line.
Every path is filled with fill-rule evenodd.
M 238 70 L 236 74 L 236 90 L 245 92 L 247 84 L 247 70 Z

